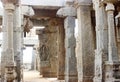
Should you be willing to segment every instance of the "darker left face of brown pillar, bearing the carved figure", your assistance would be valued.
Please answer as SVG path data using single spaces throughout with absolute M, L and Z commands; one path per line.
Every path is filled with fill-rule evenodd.
M 48 33 L 44 29 L 37 29 L 36 33 L 39 37 L 39 58 L 40 58 L 40 74 L 43 75 L 43 77 L 47 77 L 50 75 L 50 55 L 49 55 L 49 47 L 47 45 L 48 43 Z

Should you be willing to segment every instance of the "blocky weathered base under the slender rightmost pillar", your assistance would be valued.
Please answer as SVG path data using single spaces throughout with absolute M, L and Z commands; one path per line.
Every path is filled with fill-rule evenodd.
M 120 82 L 120 61 L 105 62 L 105 82 Z

